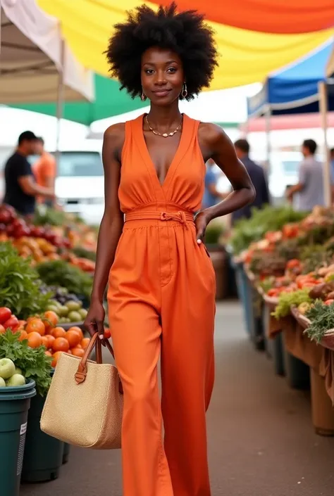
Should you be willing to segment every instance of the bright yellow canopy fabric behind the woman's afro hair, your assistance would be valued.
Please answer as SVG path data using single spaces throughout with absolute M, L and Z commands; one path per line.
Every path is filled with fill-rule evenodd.
M 37 0 L 37 3 L 61 20 L 63 34 L 78 60 L 85 67 L 106 76 L 109 68 L 103 51 L 113 25 L 125 20 L 126 11 L 143 1 Z M 157 8 L 155 4 L 145 3 Z M 333 29 L 307 34 L 266 34 L 209 24 L 216 31 L 220 53 L 219 67 L 210 89 L 261 82 L 269 72 L 304 56 L 334 34 Z

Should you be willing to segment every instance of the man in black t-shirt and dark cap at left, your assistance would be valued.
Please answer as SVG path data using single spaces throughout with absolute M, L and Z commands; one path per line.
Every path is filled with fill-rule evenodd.
M 37 152 L 39 141 L 31 131 L 25 131 L 18 138 L 16 152 L 8 158 L 4 169 L 6 193 L 4 203 L 11 205 L 21 215 L 33 215 L 36 196 L 54 198 L 54 189 L 44 188 L 35 182 L 32 167 L 27 160 Z

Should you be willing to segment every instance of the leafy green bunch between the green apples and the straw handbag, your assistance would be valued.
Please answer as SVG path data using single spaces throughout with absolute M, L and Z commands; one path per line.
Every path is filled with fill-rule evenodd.
M 7 330 L 0 334 L 0 358 L 10 358 L 26 379 L 33 379 L 41 396 L 45 396 L 51 384 L 52 357 L 45 355 L 44 346 L 30 348 L 27 339 L 19 341 L 20 333 Z

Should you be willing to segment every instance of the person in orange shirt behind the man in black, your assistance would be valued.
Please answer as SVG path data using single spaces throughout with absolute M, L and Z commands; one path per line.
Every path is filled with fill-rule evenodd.
M 36 182 L 39 186 L 54 188 L 54 181 L 56 178 L 56 159 L 53 155 L 51 155 L 51 153 L 44 150 L 44 139 L 42 138 L 38 138 L 37 153 L 40 156 L 33 167 Z M 44 203 L 44 205 L 49 207 L 54 206 L 54 200 L 45 198 L 44 196 L 38 196 L 37 201 L 39 203 Z

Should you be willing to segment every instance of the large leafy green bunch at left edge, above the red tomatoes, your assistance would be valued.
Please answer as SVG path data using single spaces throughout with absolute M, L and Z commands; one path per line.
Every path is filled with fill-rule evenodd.
M 50 293 L 39 291 L 40 281 L 30 260 L 11 243 L 0 243 L 0 307 L 9 307 L 18 319 L 47 310 Z

